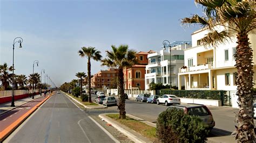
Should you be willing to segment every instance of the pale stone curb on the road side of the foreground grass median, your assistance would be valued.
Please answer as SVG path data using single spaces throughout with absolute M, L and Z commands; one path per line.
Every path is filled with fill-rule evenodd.
M 120 127 L 117 124 L 115 124 L 110 118 L 105 116 L 106 114 L 111 114 L 111 113 L 103 113 L 103 114 L 100 114 L 99 117 L 104 119 L 107 123 L 110 123 L 114 128 L 116 128 L 119 132 L 126 135 L 132 141 L 134 141 L 134 142 L 143 142 L 143 143 L 146 142 L 146 141 L 140 139 L 139 137 L 137 137 L 136 135 L 126 131 L 123 127 Z

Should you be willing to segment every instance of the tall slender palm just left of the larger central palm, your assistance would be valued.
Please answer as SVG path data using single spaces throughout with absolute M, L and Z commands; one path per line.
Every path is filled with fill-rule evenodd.
M 100 51 L 98 51 L 97 49 L 95 49 L 95 47 L 82 47 L 82 49 L 80 49 L 78 51 L 78 54 L 84 58 L 86 56 L 86 58 L 88 59 L 87 61 L 87 77 L 88 77 L 88 84 L 89 84 L 89 96 L 88 96 L 88 101 L 92 102 L 91 99 L 91 59 L 95 60 L 95 61 L 100 61 L 102 59 L 102 55 L 100 55 Z

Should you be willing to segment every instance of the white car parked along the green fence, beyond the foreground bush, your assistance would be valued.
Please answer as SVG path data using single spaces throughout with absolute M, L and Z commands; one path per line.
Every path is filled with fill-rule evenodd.
M 158 105 L 163 103 L 165 104 L 165 106 L 168 106 L 173 103 L 180 104 L 180 98 L 175 95 L 163 95 L 157 98 Z

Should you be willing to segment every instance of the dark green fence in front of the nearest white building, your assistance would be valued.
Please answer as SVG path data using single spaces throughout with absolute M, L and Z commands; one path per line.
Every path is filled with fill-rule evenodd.
M 160 96 L 164 94 L 176 95 L 180 98 L 214 99 L 220 100 L 221 105 L 232 106 L 231 92 L 225 90 L 170 90 L 161 89 Z

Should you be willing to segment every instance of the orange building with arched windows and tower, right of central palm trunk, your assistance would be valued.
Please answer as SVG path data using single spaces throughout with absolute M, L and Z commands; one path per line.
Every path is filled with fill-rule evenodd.
M 145 90 L 145 69 L 149 63 L 147 55 L 150 53 L 154 53 L 154 51 L 138 52 L 138 65 L 124 69 L 124 89 L 139 88 L 140 90 Z

